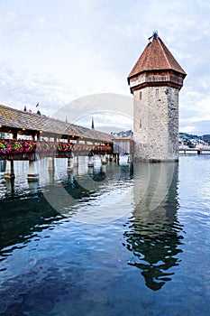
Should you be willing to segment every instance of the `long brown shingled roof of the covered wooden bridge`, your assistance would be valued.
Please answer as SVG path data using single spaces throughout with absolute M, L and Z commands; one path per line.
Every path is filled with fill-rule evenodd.
M 74 135 L 105 143 L 112 142 L 111 135 L 84 126 L 63 122 L 48 116 L 40 116 L 28 111 L 0 105 L 0 125 L 11 129 L 42 131 L 58 135 Z

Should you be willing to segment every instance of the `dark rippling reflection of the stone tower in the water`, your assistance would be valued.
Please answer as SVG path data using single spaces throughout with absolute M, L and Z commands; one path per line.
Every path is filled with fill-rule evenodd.
M 134 163 L 133 181 L 134 209 L 123 245 L 134 255 L 129 265 L 141 269 L 146 285 L 157 291 L 171 280 L 182 252 L 178 163 Z

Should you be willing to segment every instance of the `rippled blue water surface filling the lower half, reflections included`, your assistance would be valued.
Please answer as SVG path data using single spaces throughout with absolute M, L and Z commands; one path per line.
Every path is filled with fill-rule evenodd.
M 1 165 L 0 314 L 209 315 L 210 156 L 66 163 Z

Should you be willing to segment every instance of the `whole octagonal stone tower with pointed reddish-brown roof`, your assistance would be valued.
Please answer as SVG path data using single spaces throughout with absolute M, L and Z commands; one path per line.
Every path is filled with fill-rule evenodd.
M 178 91 L 186 72 L 154 32 L 128 76 L 134 99 L 133 160 L 178 160 Z

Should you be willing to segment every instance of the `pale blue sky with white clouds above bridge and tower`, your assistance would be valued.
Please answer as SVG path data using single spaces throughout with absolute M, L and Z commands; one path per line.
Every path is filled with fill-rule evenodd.
M 157 30 L 187 72 L 180 131 L 210 134 L 208 0 L 0 0 L 0 13 L 1 104 L 36 111 L 39 102 L 48 116 L 68 104 L 69 121 L 96 113 L 96 126 L 106 125 L 107 98 L 95 108 L 75 100 L 131 99 L 127 75 Z M 130 128 L 132 111 L 125 112 L 121 122 Z

